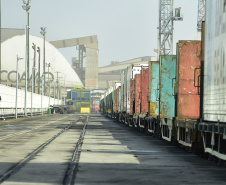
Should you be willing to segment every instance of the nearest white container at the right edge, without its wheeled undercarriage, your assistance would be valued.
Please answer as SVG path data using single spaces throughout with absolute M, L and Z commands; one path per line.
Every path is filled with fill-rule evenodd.
M 226 4 L 206 1 L 204 120 L 226 122 Z

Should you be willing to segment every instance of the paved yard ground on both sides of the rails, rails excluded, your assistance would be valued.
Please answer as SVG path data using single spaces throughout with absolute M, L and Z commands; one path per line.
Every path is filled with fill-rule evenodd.
M 59 133 L 79 115 L 51 115 L 0 122 L 0 178 L 7 170 Z M 83 122 L 55 139 L 4 185 L 62 184 Z M 223 185 L 225 168 L 124 123 L 91 114 L 78 168 L 77 185 Z

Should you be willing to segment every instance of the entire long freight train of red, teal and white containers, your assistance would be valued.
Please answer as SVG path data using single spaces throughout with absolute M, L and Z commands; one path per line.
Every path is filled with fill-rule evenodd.
M 224 1 L 206 1 L 202 40 L 179 41 L 176 55 L 129 66 L 102 97 L 101 113 L 226 161 L 225 10 Z

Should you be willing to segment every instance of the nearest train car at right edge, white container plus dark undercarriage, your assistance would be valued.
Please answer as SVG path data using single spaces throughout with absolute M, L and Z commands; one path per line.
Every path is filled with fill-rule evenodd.
M 225 1 L 206 1 L 205 63 L 201 133 L 204 152 L 226 160 Z

